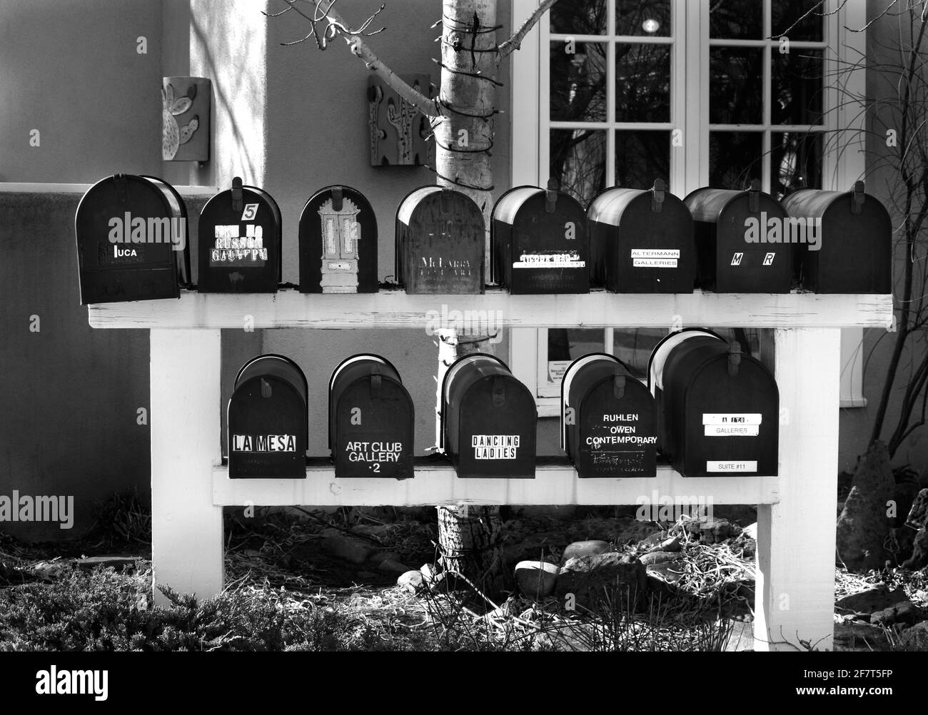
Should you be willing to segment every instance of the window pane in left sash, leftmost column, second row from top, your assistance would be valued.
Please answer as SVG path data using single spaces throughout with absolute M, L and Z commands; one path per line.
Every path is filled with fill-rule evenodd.
M 551 121 L 606 121 L 606 45 L 574 45 L 551 43 Z

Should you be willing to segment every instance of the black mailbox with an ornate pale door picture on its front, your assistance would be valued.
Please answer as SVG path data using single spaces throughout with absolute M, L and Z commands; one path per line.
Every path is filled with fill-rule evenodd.
M 300 216 L 300 292 L 376 293 L 377 217 L 364 195 L 327 186 Z

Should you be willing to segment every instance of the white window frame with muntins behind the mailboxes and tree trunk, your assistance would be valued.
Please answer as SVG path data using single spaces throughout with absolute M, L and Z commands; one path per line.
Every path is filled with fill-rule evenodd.
M 607 118 L 605 122 L 565 122 L 549 121 L 549 57 L 548 47 L 552 39 L 561 38 L 561 35 L 552 37 L 550 32 L 549 13 L 546 13 L 538 22 L 535 29 L 529 32 L 522 41 L 522 48 L 513 53 L 511 61 L 511 81 L 509 86 L 511 107 L 511 184 L 544 186 L 548 183 L 548 137 L 542 141 L 542 132 L 551 128 L 578 127 L 602 128 L 607 132 L 606 138 L 606 172 L 607 176 L 614 173 L 614 131 L 615 129 L 653 129 L 653 130 L 682 130 L 683 147 L 671 149 L 670 166 L 671 175 L 669 188 L 677 196 L 686 196 L 701 186 L 708 185 L 709 181 L 709 102 L 708 92 L 708 56 L 711 45 L 746 45 L 762 46 L 770 41 L 732 41 L 709 39 L 709 1 L 708 0 L 672 0 L 672 52 L 671 52 L 671 89 L 670 111 L 671 121 L 667 123 L 615 123 L 614 102 L 607 102 Z M 512 0 L 512 17 L 518 24 L 527 18 L 538 6 L 538 0 Z M 765 0 L 765 27 L 766 37 L 770 36 L 769 5 Z M 825 123 L 824 131 L 832 133 L 833 139 L 829 142 L 831 148 L 825 148 L 822 157 L 822 186 L 831 190 L 847 191 L 857 179 L 863 177 L 866 168 L 865 135 L 862 131 L 864 116 L 858 106 L 848 102 L 848 96 L 864 96 L 866 89 L 866 75 L 861 61 L 866 57 L 866 33 L 851 32 L 848 28 L 862 28 L 866 24 L 866 5 L 864 3 L 842 3 L 841 0 L 828 0 L 828 10 L 837 12 L 825 18 L 825 32 L 823 38 L 826 48 L 824 50 L 825 76 L 831 76 L 835 67 L 835 52 L 837 59 L 843 67 L 854 65 L 856 70 L 848 71 L 843 75 L 842 86 L 825 88 Z M 609 4 L 608 29 L 614 31 L 614 5 Z M 566 35 L 564 35 L 566 37 Z M 608 43 L 606 59 L 606 83 L 612 85 L 615 71 L 614 41 L 616 39 L 634 43 L 667 43 L 668 38 L 649 37 L 619 37 L 612 34 L 589 36 L 574 35 L 577 42 L 599 41 Z M 791 43 L 795 51 L 802 48 L 816 46 L 815 43 Z M 793 127 L 791 125 L 769 124 L 769 83 L 771 74 L 771 53 L 765 55 L 765 94 L 764 94 L 764 125 L 751 125 L 744 127 L 751 131 L 763 132 L 764 139 L 764 172 L 762 181 L 765 188 L 769 183 L 769 148 L 770 132 L 780 131 L 807 131 L 809 127 Z M 687 81 L 694 76 L 698 82 Z M 844 103 L 838 98 L 844 96 Z M 837 107 L 837 109 L 833 109 Z M 844 127 L 840 134 L 838 127 Z M 712 125 L 712 130 L 720 129 Z M 725 126 L 725 129 L 737 130 L 737 126 Z M 703 140 L 704 137 L 704 140 Z M 853 139 L 853 141 L 851 141 Z M 846 142 L 846 143 L 845 143 Z M 840 148 L 834 148 L 840 147 Z M 867 401 L 863 397 L 863 370 L 862 370 L 862 328 L 843 328 L 842 330 L 842 374 L 841 374 L 841 406 L 863 407 Z M 533 389 L 539 416 L 560 415 L 560 397 L 540 396 L 542 391 L 541 378 L 547 375 L 548 358 L 548 331 L 545 328 L 512 328 L 509 340 L 509 365 L 515 377 Z M 612 352 L 612 328 L 606 328 L 603 336 L 603 350 Z

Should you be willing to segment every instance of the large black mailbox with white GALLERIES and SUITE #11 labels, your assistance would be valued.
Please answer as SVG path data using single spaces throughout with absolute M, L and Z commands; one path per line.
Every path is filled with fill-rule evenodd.
M 684 477 L 776 476 L 780 392 L 767 368 L 737 342 L 702 336 L 666 354 L 666 442 Z

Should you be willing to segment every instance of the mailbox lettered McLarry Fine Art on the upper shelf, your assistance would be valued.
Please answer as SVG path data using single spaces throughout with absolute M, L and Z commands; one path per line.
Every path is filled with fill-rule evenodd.
M 483 293 L 483 213 L 449 188 L 423 186 L 396 210 L 396 280 L 406 293 Z

